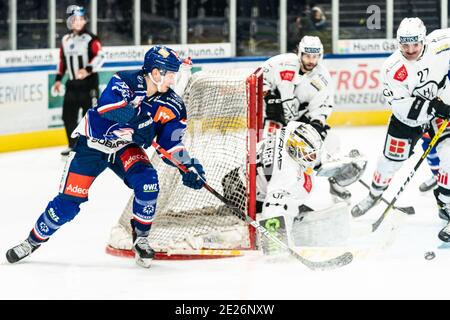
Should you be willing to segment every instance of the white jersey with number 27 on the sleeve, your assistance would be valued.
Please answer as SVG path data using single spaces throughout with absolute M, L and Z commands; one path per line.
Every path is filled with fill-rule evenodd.
M 430 33 L 417 61 L 408 61 L 400 50 L 385 61 L 383 95 L 398 120 L 417 127 L 433 118 L 428 113 L 429 103 L 449 90 L 449 61 L 450 29 Z

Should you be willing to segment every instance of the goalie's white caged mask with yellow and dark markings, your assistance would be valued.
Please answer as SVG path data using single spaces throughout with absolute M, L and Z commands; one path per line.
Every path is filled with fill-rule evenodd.
M 305 173 L 311 174 L 320 161 L 323 141 L 313 126 L 299 123 L 299 126 L 289 133 L 286 141 L 286 151 Z

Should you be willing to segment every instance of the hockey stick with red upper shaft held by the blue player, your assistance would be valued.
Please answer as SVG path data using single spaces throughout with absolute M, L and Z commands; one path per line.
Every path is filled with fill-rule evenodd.
M 161 153 L 164 157 L 167 158 L 172 164 L 174 164 L 178 169 L 183 171 L 184 173 L 188 173 L 189 169 L 186 168 L 181 162 L 179 162 L 177 159 L 172 157 L 170 153 L 168 153 L 166 150 L 164 150 L 159 144 L 157 144 L 155 141 L 153 141 L 152 146 Z M 300 254 L 298 254 L 294 249 L 292 249 L 289 245 L 278 239 L 276 236 L 274 236 L 272 233 L 267 231 L 266 228 L 261 226 L 256 220 L 246 215 L 244 212 L 242 212 L 239 208 L 231 204 L 227 199 L 225 199 L 224 196 L 222 196 L 220 193 L 218 193 L 216 190 L 214 190 L 206 181 L 204 181 L 203 187 L 208 190 L 211 194 L 213 194 L 216 198 L 218 198 L 220 201 L 222 201 L 224 204 L 226 204 L 231 210 L 233 210 L 236 215 L 241 218 L 242 220 L 246 221 L 249 225 L 251 225 L 253 228 L 255 228 L 261 235 L 269 239 L 270 241 L 273 241 L 277 243 L 280 247 L 287 250 L 290 255 L 292 255 L 294 258 L 299 260 L 301 263 L 303 263 L 306 267 L 310 268 L 311 270 L 329 270 L 334 269 L 338 267 L 345 266 L 352 262 L 353 260 L 353 254 L 351 252 L 345 252 L 342 255 L 332 258 L 330 260 L 325 261 L 311 261 L 304 257 L 302 257 Z

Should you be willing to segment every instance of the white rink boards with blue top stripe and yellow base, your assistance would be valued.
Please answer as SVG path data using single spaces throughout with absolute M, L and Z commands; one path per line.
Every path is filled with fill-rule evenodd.
M 145 51 L 144 48 L 139 49 Z M 267 59 L 267 57 L 226 57 L 229 54 L 226 46 L 224 48 L 213 46 L 208 49 L 213 54 L 199 54 L 198 58 L 193 59 L 193 72 L 210 69 L 256 69 Z M 117 48 L 112 51 L 117 51 Z M 8 66 L 5 57 L 0 56 L 2 61 L 0 152 L 66 144 L 61 119 L 63 93 L 58 94 L 52 90 L 56 74 L 57 49 L 17 52 L 21 53 L 22 57 L 16 57 L 14 61 L 22 58 L 21 61 L 25 62 L 15 62 L 12 66 Z M 223 52 L 225 56 L 221 57 L 217 52 Z M 27 53 L 33 55 L 32 61 L 30 57 L 24 60 Z M 219 57 L 215 57 L 218 55 Z M 108 56 L 111 59 L 105 62 L 99 72 L 100 90 L 105 88 L 115 71 L 137 69 L 141 66 L 139 54 L 128 55 L 126 59 L 120 54 Z M 328 120 L 331 126 L 387 123 L 390 112 L 384 106 L 380 80 L 380 68 L 386 56 L 386 54 L 325 56 L 324 64 L 330 70 L 335 86 L 334 111 Z

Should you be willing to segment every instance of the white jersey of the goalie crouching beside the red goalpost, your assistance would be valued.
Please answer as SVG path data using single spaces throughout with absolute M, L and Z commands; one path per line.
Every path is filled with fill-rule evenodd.
M 257 199 L 266 201 L 277 195 L 289 194 L 289 198 L 302 204 L 313 188 L 312 175 L 307 175 L 300 165 L 286 152 L 286 141 L 299 122 L 291 121 L 257 146 Z

